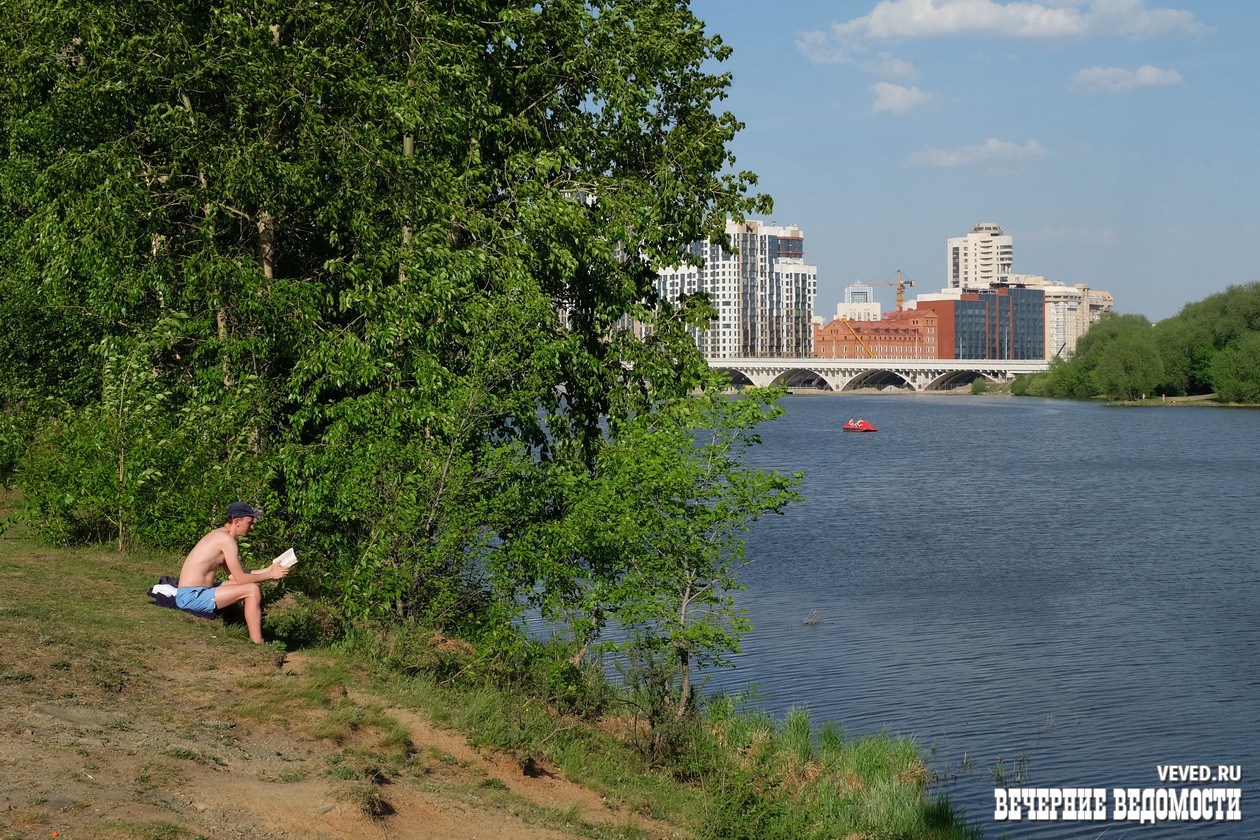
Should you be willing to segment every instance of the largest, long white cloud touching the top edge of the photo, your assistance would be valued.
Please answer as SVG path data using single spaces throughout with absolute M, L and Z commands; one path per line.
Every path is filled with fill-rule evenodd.
M 829 31 L 801 33 L 798 47 L 814 55 L 862 42 L 946 38 L 1157 38 L 1202 35 L 1208 29 L 1193 13 L 1148 9 L 1147 0 L 881 0 L 869 14 L 834 23 Z M 809 49 L 805 45 L 808 44 Z M 819 63 L 815 60 L 815 63 Z

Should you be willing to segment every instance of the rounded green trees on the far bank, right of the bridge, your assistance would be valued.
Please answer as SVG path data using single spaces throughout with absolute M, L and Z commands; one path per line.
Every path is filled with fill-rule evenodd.
M 1154 325 L 1142 315 L 1104 316 L 1070 359 L 1021 377 L 1012 392 L 1081 399 L 1215 394 L 1260 403 L 1260 283 L 1230 286 Z

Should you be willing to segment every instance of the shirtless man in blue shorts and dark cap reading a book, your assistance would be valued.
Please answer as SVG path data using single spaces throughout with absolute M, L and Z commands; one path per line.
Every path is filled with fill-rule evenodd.
M 289 574 L 289 568 L 278 563 L 253 572 L 241 567 L 237 540 L 249 533 L 260 516 L 262 511 L 257 508 L 243 501 L 232 502 L 227 524 L 198 540 L 184 558 L 175 593 L 175 606 L 198 612 L 212 612 L 244 601 L 244 623 L 255 645 L 262 644 L 262 591 L 258 582 L 278 581 Z M 215 586 L 214 573 L 220 565 L 227 568 L 228 579 Z

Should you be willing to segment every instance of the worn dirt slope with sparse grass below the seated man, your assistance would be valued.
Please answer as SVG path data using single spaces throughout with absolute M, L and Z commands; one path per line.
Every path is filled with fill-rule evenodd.
M 3 839 L 684 836 L 358 689 L 325 712 L 268 709 L 306 689 L 310 660 L 146 604 L 117 555 L 52 593 L 52 559 L 0 553 Z M 312 733 L 346 701 L 402 724 L 406 772 L 344 772 L 378 735 Z

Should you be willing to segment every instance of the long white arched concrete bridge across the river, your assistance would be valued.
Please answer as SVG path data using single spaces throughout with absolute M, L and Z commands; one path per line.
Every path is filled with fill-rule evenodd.
M 1050 366 L 1042 359 L 709 359 L 708 364 L 730 372 L 736 385 L 823 390 L 951 390 L 976 379 L 1009 382 Z

